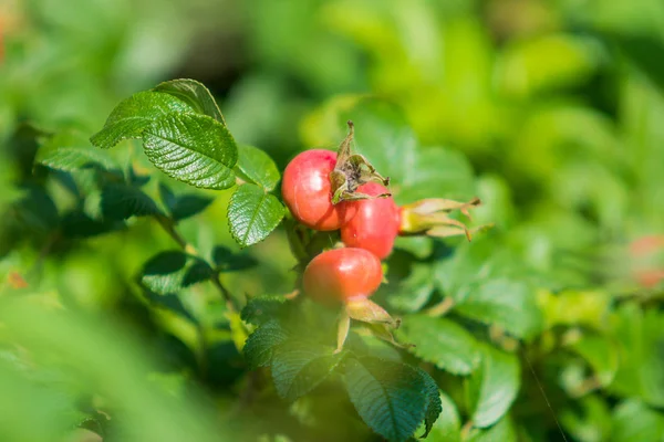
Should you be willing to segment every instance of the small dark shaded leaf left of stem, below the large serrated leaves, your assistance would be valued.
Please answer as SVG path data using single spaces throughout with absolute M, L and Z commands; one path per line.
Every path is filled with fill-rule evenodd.
M 102 189 L 102 214 L 108 220 L 158 214 L 157 204 L 141 189 L 123 183 L 110 183 Z

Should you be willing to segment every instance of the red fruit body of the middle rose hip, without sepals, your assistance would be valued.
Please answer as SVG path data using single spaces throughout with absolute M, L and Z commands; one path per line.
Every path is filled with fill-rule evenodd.
M 376 182 L 357 189 L 372 197 L 388 190 Z M 341 228 L 341 240 L 349 248 L 369 250 L 383 260 L 392 253 L 401 223 L 400 209 L 392 197 L 355 201 L 357 213 Z

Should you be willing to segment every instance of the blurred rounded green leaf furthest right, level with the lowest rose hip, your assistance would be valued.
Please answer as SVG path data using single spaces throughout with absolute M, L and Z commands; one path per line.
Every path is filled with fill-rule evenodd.
M 480 284 L 456 305 L 455 312 L 508 333 L 529 338 L 542 327 L 535 291 L 528 283 L 498 278 Z

